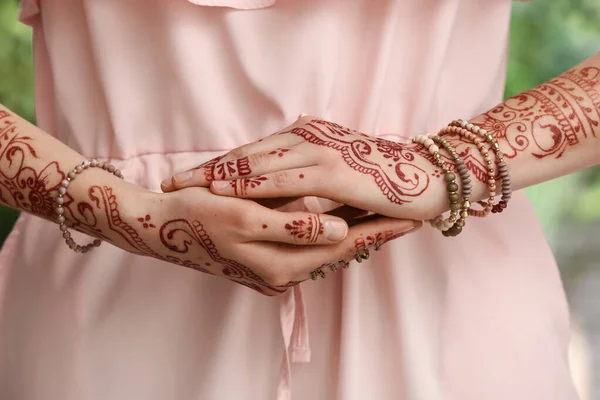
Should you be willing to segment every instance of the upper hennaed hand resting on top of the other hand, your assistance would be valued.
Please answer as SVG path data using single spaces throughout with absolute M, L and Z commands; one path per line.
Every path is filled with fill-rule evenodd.
M 388 217 L 429 219 L 441 211 L 445 190 L 432 184 L 437 168 L 428 158 L 427 150 L 413 143 L 305 116 L 175 175 L 163 182 L 163 190 L 210 186 L 218 195 L 254 199 L 318 196 Z M 424 201 L 426 192 L 433 200 Z

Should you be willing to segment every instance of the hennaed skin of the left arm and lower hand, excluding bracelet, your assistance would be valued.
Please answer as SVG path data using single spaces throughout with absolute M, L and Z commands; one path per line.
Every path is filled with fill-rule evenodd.
M 56 220 L 59 185 L 84 160 L 0 106 L 0 204 Z M 256 186 L 249 181 L 248 187 Z M 206 188 L 154 193 L 100 168 L 78 174 L 64 199 L 63 216 L 72 229 L 165 261 L 165 267 L 192 268 L 266 295 L 308 279 L 315 268 L 352 260 L 363 236 L 380 235 L 383 244 L 420 226 L 384 217 L 356 224 L 363 214 L 352 208 L 284 213 Z M 343 218 L 354 218 L 353 226 Z

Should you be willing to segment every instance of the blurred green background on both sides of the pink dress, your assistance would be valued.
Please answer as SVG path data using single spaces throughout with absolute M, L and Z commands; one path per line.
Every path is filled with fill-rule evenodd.
M 33 121 L 31 31 L 17 23 L 18 1 L 0 2 L 0 103 Z M 600 51 L 600 0 L 515 3 L 506 96 L 559 75 Z M 584 399 L 600 399 L 600 167 L 530 188 L 557 257 L 583 360 L 574 369 Z M 0 243 L 16 212 L 0 206 Z M 575 349 L 577 352 L 578 350 Z M 578 362 L 578 361 L 576 361 Z M 596 389 L 596 390 L 594 390 Z

